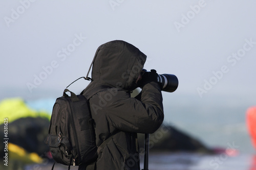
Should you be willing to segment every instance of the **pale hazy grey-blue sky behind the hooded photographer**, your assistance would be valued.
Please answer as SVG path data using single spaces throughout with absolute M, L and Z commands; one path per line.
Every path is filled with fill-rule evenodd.
M 1 1 L 0 99 L 57 98 L 87 75 L 99 45 L 118 39 L 147 55 L 147 70 L 178 77 L 178 89 L 163 92 L 166 112 L 256 105 L 255 7 L 252 0 Z M 178 115 L 166 120 L 182 121 Z

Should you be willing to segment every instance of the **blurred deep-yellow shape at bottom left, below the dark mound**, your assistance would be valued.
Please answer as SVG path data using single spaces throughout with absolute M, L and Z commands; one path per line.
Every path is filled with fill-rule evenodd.
M 23 163 L 42 163 L 42 158 L 36 153 L 28 153 L 16 144 L 8 143 L 8 155 L 12 160 L 19 160 Z

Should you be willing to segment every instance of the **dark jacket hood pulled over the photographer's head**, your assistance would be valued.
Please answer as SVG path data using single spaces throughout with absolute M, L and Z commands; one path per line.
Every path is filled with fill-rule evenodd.
M 146 55 L 130 43 L 122 40 L 104 43 L 94 57 L 91 83 L 134 90 L 145 61 Z

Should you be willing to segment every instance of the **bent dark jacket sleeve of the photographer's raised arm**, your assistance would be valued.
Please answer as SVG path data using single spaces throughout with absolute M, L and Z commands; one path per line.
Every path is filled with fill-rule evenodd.
M 162 100 L 156 82 L 143 86 L 140 100 L 130 98 L 125 91 L 118 91 L 106 107 L 106 118 L 110 125 L 121 131 L 154 133 L 164 118 Z

